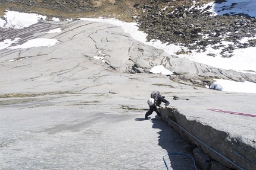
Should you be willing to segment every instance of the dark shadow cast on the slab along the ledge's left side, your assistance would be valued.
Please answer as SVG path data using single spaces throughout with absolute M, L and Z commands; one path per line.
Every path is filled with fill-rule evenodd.
M 167 151 L 166 154 L 170 154 L 166 156 L 163 155 L 168 168 L 171 166 L 174 170 L 195 169 L 193 159 L 187 156 L 192 156 L 194 147 L 185 142 L 176 131 L 168 126 L 166 122 L 160 120 L 158 116 L 152 118 L 151 121 L 153 128 L 160 129 L 158 132 L 158 145 Z M 186 155 L 180 155 L 178 153 Z

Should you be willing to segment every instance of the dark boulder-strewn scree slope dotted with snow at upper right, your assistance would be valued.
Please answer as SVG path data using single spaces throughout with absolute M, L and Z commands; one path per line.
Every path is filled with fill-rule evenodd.
M 232 4 L 233 8 L 236 4 Z M 201 7 L 199 5 L 198 7 Z M 208 12 L 208 6 L 204 9 L 191 8 L 191 6 L 180 5 L 162 10 L 157 5 L 136 4 L 135 8 L 142 12 L 139 17 L 134 18 L 138 26 L 145 31 L 147 40 L 161 40 L 163 43 L 180 43 L 188 47 L 180 53 L 189 53 L 191 50 L 205 52 L 205 47 L 210 45 L 213 49 L 221 49 L 221 56 L 232 57 L 233 50 L 246 47 L 255 47 L 256 39 L 242 43 L 244 37 L 254 37 L 256 34 L 256 19 L 248 15 L 217 15 Z M 216 11 L 218 12 L 218 11 Z M 228 45 L 221 44 L 221 41 L 230 42 Z M 179 53 L 177 53 L 179 54 Z M 214 56 L 215 54 L 209 53 Z

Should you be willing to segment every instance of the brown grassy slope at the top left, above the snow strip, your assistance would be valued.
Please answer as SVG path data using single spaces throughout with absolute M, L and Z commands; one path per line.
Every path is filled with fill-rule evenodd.
M 130 22 L 132 16 L 137 15 L 133 5 L 136 3 L 146 3 L 149 0 L 0 0 L 0 15 L 4 15 L 5 10 L 33 12 L 46 15 L 49 20 L 52 17 L 66 20 L 79 17 L 105 17 L 117 18 Z

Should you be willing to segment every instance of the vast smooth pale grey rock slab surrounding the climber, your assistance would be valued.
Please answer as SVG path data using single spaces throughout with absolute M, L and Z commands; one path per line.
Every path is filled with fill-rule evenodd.
M 61 33 L 46 33 L 55 28 Z M 211 140 L 216 133 L 196 128 L 212 127 L 254 148 L 246 165 L 237 157 L 243 149 L 227 148 L 238 152 L 235 158 L 227 155 L 239 166 L 254 166 L 255 118 L 207 108 L 255 114 L 256 95 L 202 88 L 213 76 L 244 81 L 254 75 L 182 60 L 133 40 L 120 27 L 91 21 L 42 21 L 4 30 L 1 36 L 20 37 L 18 44 L 36 38 L 59 41 L 49 47 L 0 51 L 1 169 L 164 169 L 163 155 L 191 154 L 193 147 L 154 118 L 155 113 L 144 120 L 153 90 L 166 96 L 179 111 L 177 122 L 198 137 Z M 148 73 L 155 65 L 177 74 Z M 143 72 L 135 72 L 141 68 Z M 174 95 L 178 100 L 172 100 Z M 226 147 L 220 145 L 213 147 Z M 167 157 L 173 169 L 193 169 L 191 159 Z

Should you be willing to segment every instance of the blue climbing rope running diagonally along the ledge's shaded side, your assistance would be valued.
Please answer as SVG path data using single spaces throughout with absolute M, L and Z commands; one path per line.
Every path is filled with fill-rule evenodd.
M 206 145 L 204 142 L 202 142 L 200 139 L 198 139 L 197 137 L 193 136 L 193 134 L 189 133 L 187 130 L 183 129 L 183 127 L 179 126 L 179 124 L 175 123 L 173 120 L 171 120 L 170 118 L 168 118 L 166 116 L 166 114 L 164 114 L 164 111 L 162 110 L 162 108 L 160 107 L 161 112 L 163 113 L 164 117 L 166 117 L 168 120 L 170 120 L 172 123 L 174 123 L 177 127 L 179 127 L 180 129 L 182 129 L 183 131 L 185 131 L 186 133 L 188 133 L 190 136 L 192 136 L 194 139 L 198 140 L 198 142 L 202 143 L 202 145 L 206 146 L 208 149 L 212 150 L 214 153 L 217 153 L 217 155 L 221 156 L 221 158 L 225 159 L 227 162 L 231 163 L 232 165 L 236 166 L 236 168 L 241 169 L 241 170 L 245 170 L 243 168 L 241 168 L 240 166 L 236 165 L 236 163 L 230 161 L 229 159 L 227 159 L 226 157 L 224 157 L 223 155 L 221 155 L 220 153 L 218 153 L 216 150 L 214 150 L 213 148 L 211 148 L 210 146 Z M 167 153 L 168 155 L 168 153 Z M 166 156 L 166 155 L 165 155 Z M 165 161 L 164 161 L 165 162 Z M 166 162 L 165 162 L 166 163 Z M 166 168 L 168 169 L 168 166 L 166 164 Z

